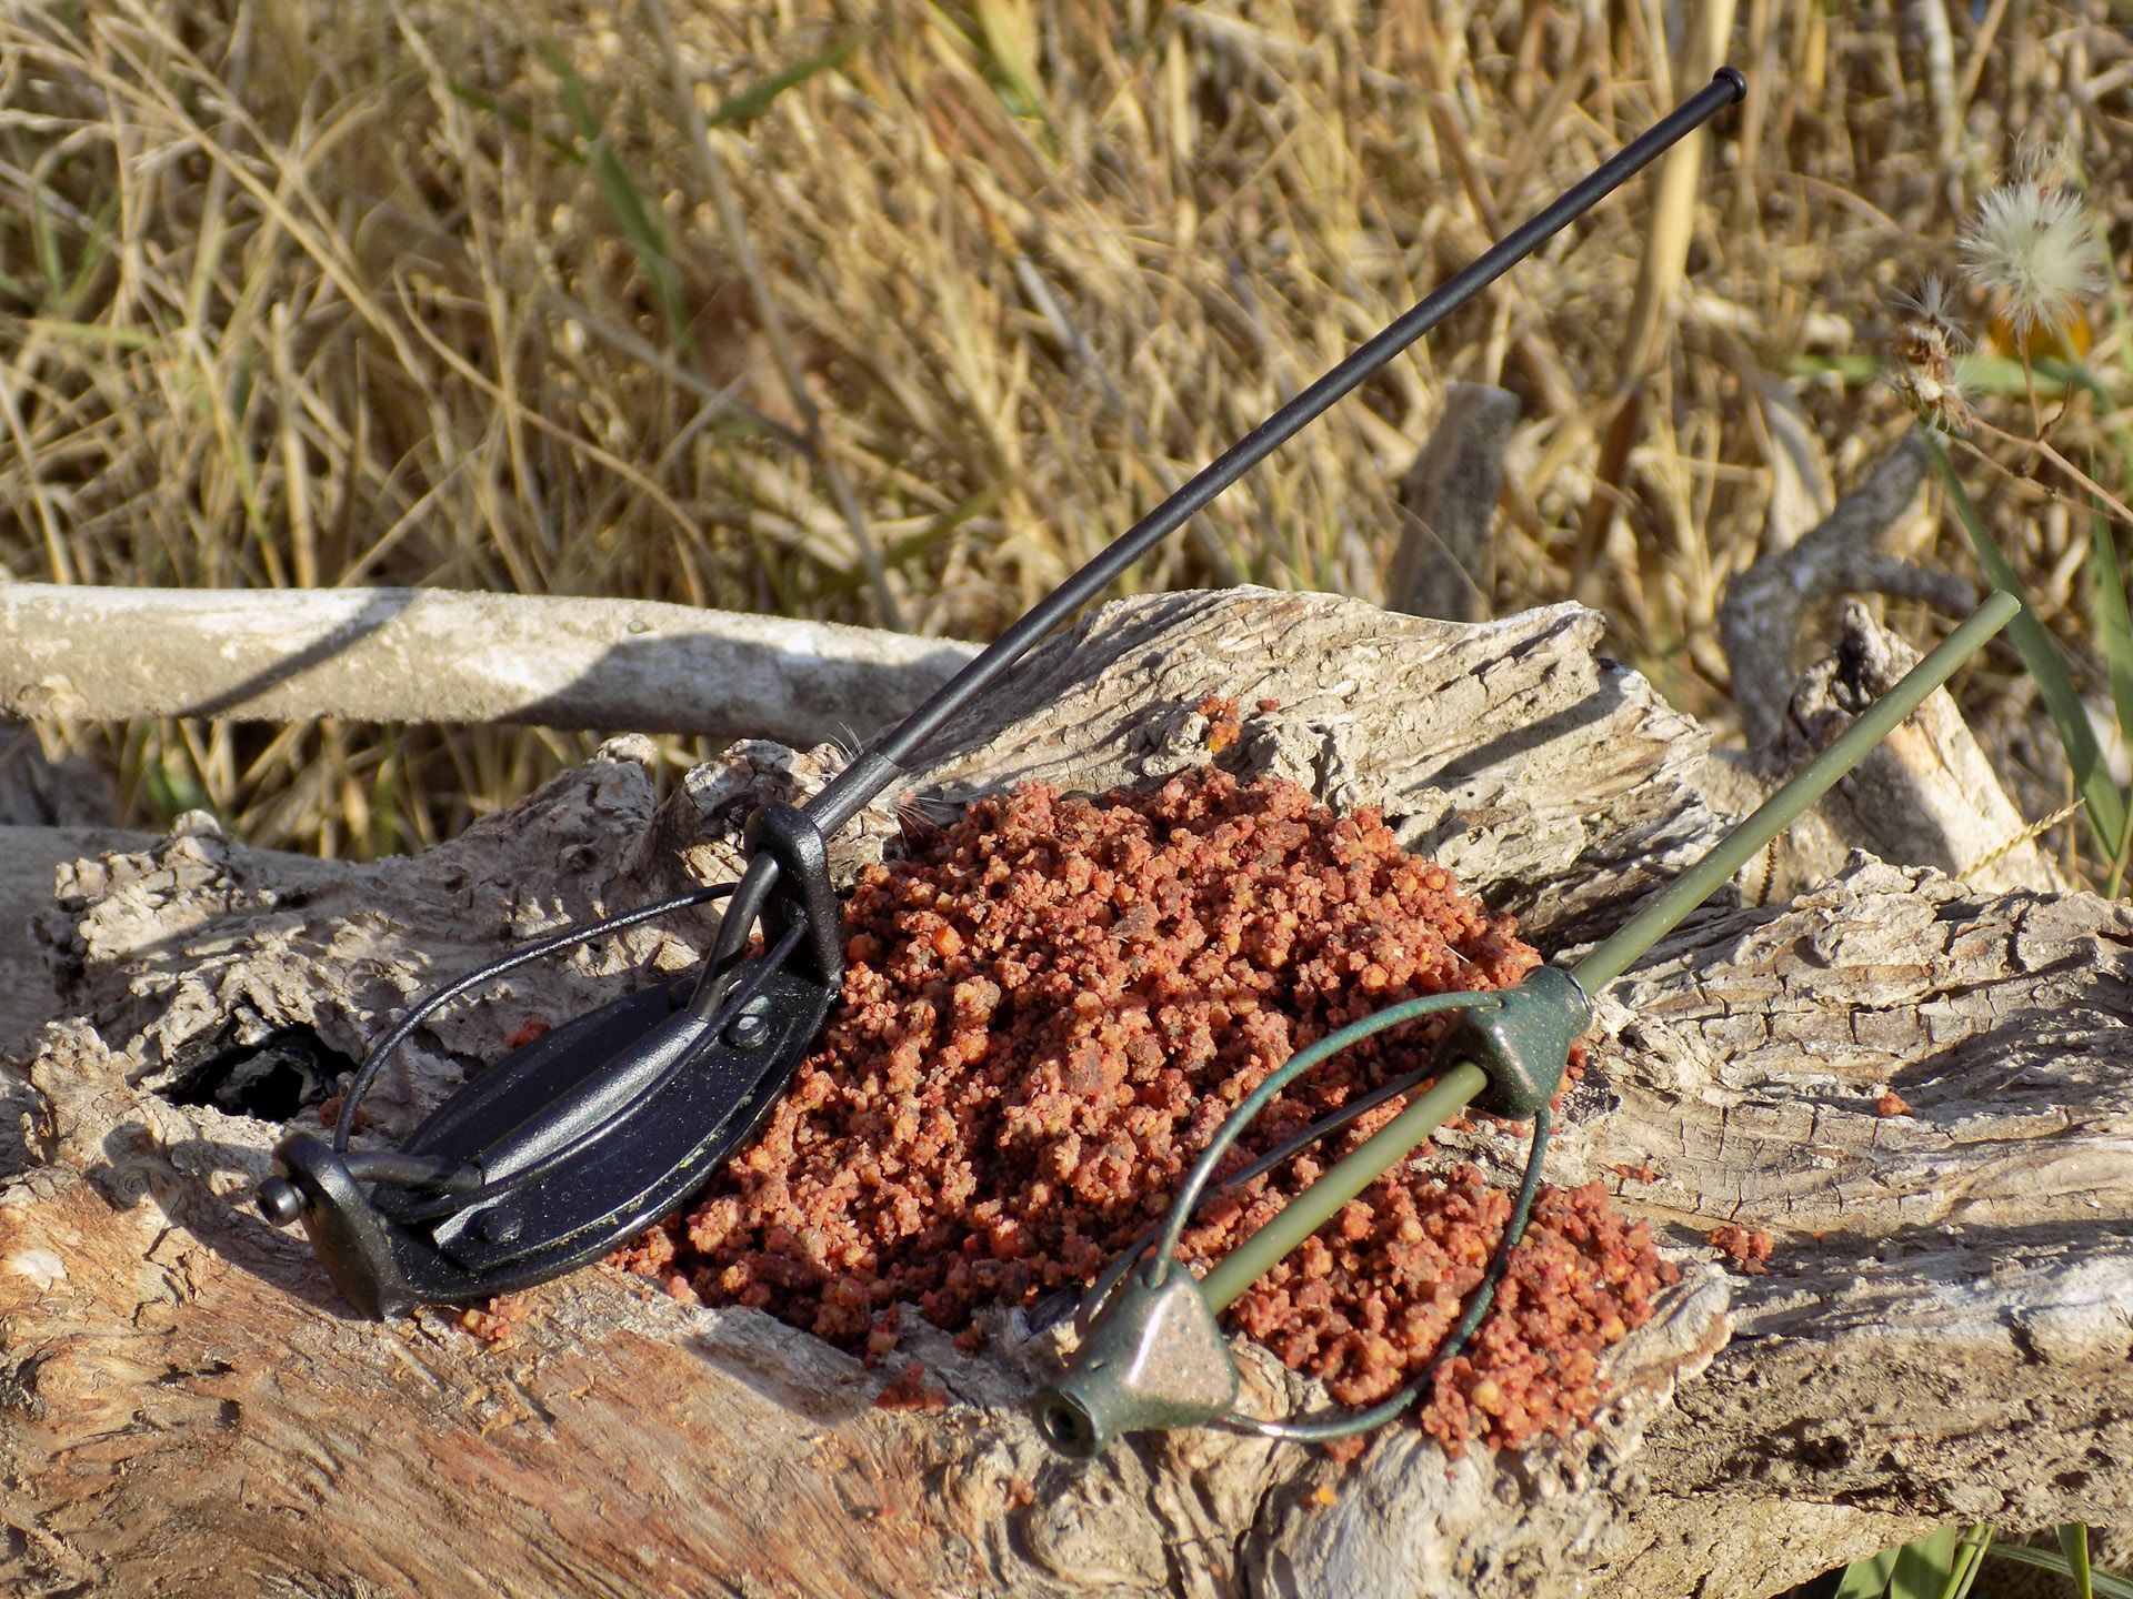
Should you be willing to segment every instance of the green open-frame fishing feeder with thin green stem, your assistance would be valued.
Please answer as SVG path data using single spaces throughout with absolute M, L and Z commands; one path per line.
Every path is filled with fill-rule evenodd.
M 2022 610 L 2022 601 L 2014 595 L 1992 593 L 1828 748 L 1576 966 L 1542 966 L 1521 983 L 1495 994 L 1431 994 L 1386 1006 L 1327 1034 L 1261 1083 L 1192 1164 L 1184 1188 L 1171 1200 L 1160 1232 L 1143 1234 L 1130 1245 L 1084 1298 L 1077 1315 L 1084 1330 L 1081 1345 L 1066 1373 L 1049 1388 L 1041 1388 L 1032 1405 L 1037 1426 L 1052 1448 L 1086 1460 L 1120 1433 L 1205 1426 L 1209 1422 L 1265 1437 L 1331 1443 L 1382 1426 L 1414 1403 L 1438 1367 L 1459 1354 L 1474 1328 L 1480 1326 L 1482 1315 L 1489 1313 L 1495 1288 L 1510 1264 L 1510 1251 L 1525 1232 L 1525 1217 L 1540 1188 L 1540 1166 L 1549 1147 L 1549 1102 L 1563 1081 L 1570 1047 L 1591 1023 L 1593 996 L 1630 970 L 1696 906 L 1730 883 L 1734 872 L 1828 793 L 2018 610 Z M 1280 1215 L 1222 1256 L 1220 1264 L 1205 1277 L 1194 1277 L 1175 1258 L 1177 1239 L 1222 1156 L 1265 1109 L 1267 1100 L 1342 1049 L 1440 1011 L 1457 1011 L 1459 1021 L 1438 1045 L 1427 1068 L 1352 1100 L 1261 1156 L 1229 1181 L 1250 1181 L 1299 1149 L 1348 1126 L 1365 1111 L 1399 1094 L 1425 1092 L 1416 1094 L 1397 1117 L 1297 1194 Z M 1444 1343 L 1397 1392 L 1367 1409 L 1288 1422 L 1237 1411 L 1237 1364 L 1231 1358 L 1229 1337 L 1216 1318 L 1261 1273 L 1331 1222 L 1348 1200 L 1406 1160 L 1418 1143 L 1463 1109 L 1510 1121 L 1531 1121 L 1534 1138 L 1504 1239 Z M 1154 1243 L 1154 1258 L 1145 1269 L 1135 1271 L 1150 1243 Z

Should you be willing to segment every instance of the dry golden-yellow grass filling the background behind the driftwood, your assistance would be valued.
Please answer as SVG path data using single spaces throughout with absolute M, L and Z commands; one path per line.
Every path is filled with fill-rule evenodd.
M 668 0 L 670 58 L 636 0 L 4 0 L 0 565 L 985 637 L 1691 90 L 1715 4 Z M 1645 185 L 1133 582 L 1376 599 L 1444 386 L 1502 384 L 1523 420 L 1493 608 L 1604 605 L 1625 659 L 1723 721 L 1728 574 L 1901 435 L 1871 382 L 1888 294 L 1952 264 L 2020 139 L 2071 141 L 2127 273 L 2133 4 L 1741 0 L 1726 53 L 1751 92 L 1709 145 L 1619 488 L 1595 465 L 1664 271 Z M 2069 454 L 2127 424 L 2114 307 L 2090 367 L 2116 399 L 2069 414 Z M 1977 488 L 2078 646 L 2080 529 Z M 1937 503 L 1901 544 L 1971 571 Z M 2016 674 L 1988 689 L 2020 721 Z M 591 742 L 45 738 L 105 763 L 132 821 L 209 804 L 358 855 Z

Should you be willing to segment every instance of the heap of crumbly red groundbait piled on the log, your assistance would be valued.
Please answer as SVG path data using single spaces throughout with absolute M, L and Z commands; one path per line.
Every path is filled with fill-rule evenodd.
M 1335 817 L 1222 772 L 1145 793 L 988 797 L 864 872 L 845 1002 L 764 1134 L 623 1264 L 768 1309 L 870 1360 L 896 1305 L 964 1332 L 983 1305 L 1081 1286 L 1150 1220 L 1222 1119 L 1295 1051 L 1399 1000 L 1538 966 L 1508 917 Z M 1429 1057 L 1448 1025 L 1380 1034 L 1278 1096 L 1229 1168 Z M 1214 1260 L 1382 1128 L 1203 1205 Z M 1229 1320 L 1342 1403 L 1389 1394 L 1480 1281 L 1510 1194 L 1472 1166 L 1397 1175 L 1248 1290 Z M 1672 1281 L 1604 1190 L 1542 1190 L 1497 1307 L 1421 1422 L 1517 1448 L 1598 1405 L 1598 1356 Z M 909 1375 L 909 1373 L 907 1373 Z

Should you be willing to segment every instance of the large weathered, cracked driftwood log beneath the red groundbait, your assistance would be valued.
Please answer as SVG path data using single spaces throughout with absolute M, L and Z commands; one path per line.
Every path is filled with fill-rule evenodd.
M 1482 627 L 1265 593 L 1113 605 L 949 729 L 917 802 L 1278 770 L 1386 806 L 1561 949 L 1721 827 L 1698 729 L 1598 637 L 1568 605 Z M 1209 693 L 1246 708 L 1218 755 Z M 1568 1443 L 1448 1465 L 1395 1426 L 1335 1467 L 1188 1433 L 1075 1469 L 1022 1418 L 1054 1345 L 1020 1318 L 975 1356 L 909 1318 L 951 1403 L 887 1414 L 889 1371 L 608 1269 L 533 1294 L 501 1343 L 446 1313 L 350 1320 L 247 1207 L 277 1134 L 252 1111 L 314 1115 L 427 983 L 729 872 L 738 817 L 830 759 L 742 746 L 655 806 L 640 753 L 414 859 L 190 827 L 64 874 L 41 936 L 66 1019 L 9 1079 L 0 1586 L 1672 1599 L 1770 1593 L 1947 1518 L 2133 1501 L 2133 915 L 1866 859 L 1798 904 L 1700 915 L 1604 1002 L 1551 1175 L 1623 1185 L 1689 1269 Z M 894 829 L 870 814 L 838 872 Z M 683 919 L 499 979 L 418 1036 L 382 1119 L 702 938 Z M 1883 1089 L 1909 1111 L 1877 1113 Z M 1777 1234 L 1768 1275 L 1709 1262 L 1721 1222 Z M 1267 1360 L 1248 1388 L 1310 1399 Z

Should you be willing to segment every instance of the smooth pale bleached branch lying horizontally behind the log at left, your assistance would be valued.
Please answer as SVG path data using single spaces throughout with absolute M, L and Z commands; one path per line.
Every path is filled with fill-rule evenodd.
M 968 644 L 642 599 L 0 584 L 0 714 L 864 738 Z

